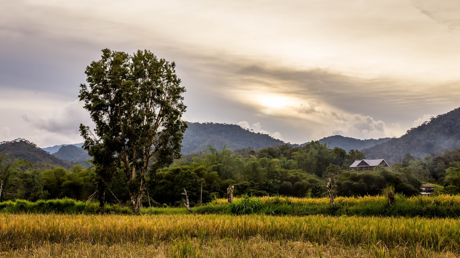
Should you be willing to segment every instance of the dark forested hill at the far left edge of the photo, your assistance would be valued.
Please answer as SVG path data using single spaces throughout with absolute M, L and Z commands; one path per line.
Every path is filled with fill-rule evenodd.
M 31 163 L 47 163 L 63 168 L 73 166 L 69 161 L 55 157 L 25 139 L 0 142 L 0 152 L 6 152 L 13 159 L 25 159 Z

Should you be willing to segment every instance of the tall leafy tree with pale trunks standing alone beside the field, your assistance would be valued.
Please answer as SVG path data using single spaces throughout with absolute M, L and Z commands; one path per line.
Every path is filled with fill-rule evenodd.
M 86 67 L 89 85 L 80 85 L 80 100 L 96 125 L 93 133 L 81 124 L 83 147 L 93 157 L 101 205 L 119 169 L 139 211 L 146 175 L 180 157 L 187 128 L 181 119 L 185 88 L 179 85 L 175 63 L 157 59 L 149 50 L 133 55 L 102 51 L 101 60 Z

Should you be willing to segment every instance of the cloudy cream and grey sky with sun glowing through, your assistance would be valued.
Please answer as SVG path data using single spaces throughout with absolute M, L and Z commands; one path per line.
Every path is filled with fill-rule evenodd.
M 101 50 L 174 61 L 184 120 L 290 143 L 399 137 L 460 106 L 460 0 L 0 0 L 0 141 L 82 142 Z

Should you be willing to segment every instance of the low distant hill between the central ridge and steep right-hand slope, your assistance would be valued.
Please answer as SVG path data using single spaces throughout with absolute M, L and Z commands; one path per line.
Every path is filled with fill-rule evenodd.
M 376 144 L 379 143 L 384 143 L 385 141 L 390 140 L 390 138 L 380 138 L 380 139 L 368 139 L 368 140 L 360 140 L 360 139 L 355 139 L 355 138 L 350 138 L 350 137 L 344 137 L 342 135 L 334 135 L 334 136 L 329 136 L 326 138 L 322 138 L 319 140 L 320 143 L 322 144 L 327 144 L 327 146 L 331 149 L 334 149 L 334 147 L 339 147 L 344 149 L 345 151 L 350 151 L 350 150 L 362 150 L 365 148 L 372 147 Z

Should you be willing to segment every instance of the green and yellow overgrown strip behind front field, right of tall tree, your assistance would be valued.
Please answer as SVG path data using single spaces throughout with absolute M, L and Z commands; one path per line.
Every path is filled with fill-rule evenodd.
M 386 190 L 392 190 L 388 187 Z M 289 200 L 291 199 L 291 200 Z M 194 208 L 201 214 L 268 214 L 268 215 L 332 215 L 332 216 L 378 216 L 378 217 L 426 217 L 459 218 L 459 196 L 439 195 L 406 197 L 397 194 L 395 202 L 388 204 L 385 196 L 375 197 L 339 197 L 335 199 L 336 208 L 332 208 L 328 198 L 309 199 L 275 197 L 250 197 L 243 195 L 235 202 L 207 204 Z

